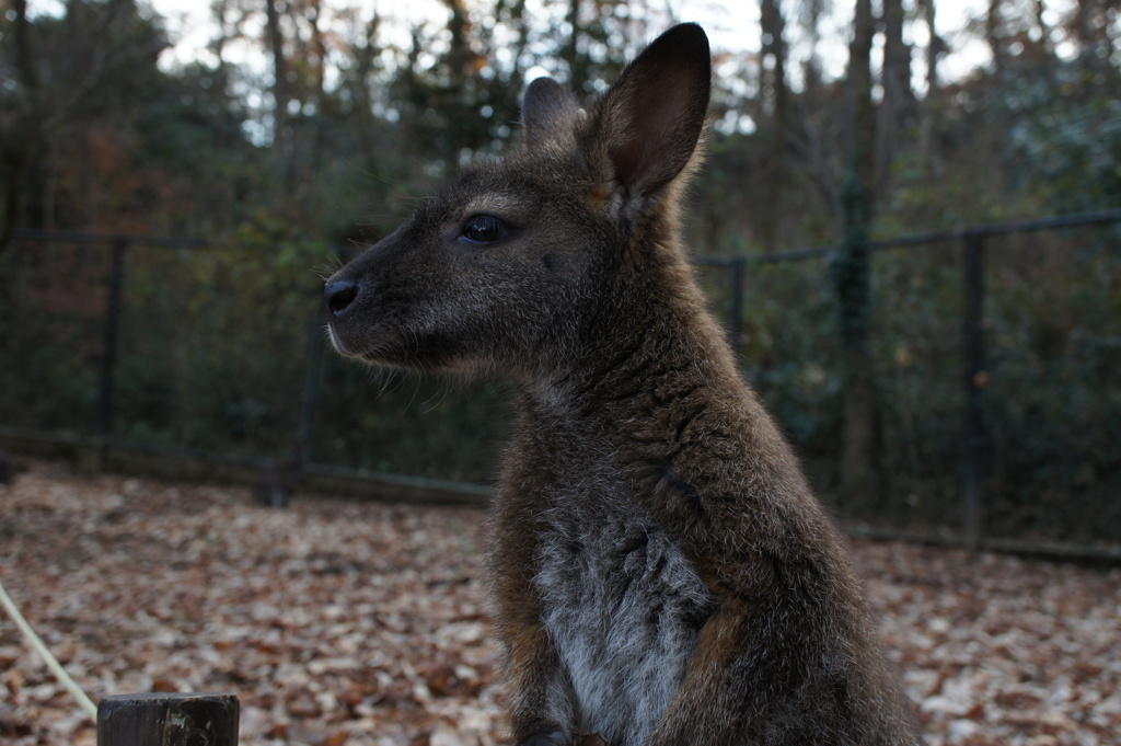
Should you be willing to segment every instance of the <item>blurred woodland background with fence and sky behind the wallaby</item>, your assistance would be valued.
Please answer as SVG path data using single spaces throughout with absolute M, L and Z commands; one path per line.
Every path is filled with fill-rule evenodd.
M 0 442 L 483 496 L 501 381 L 340 360 L 319 276 L 697 20 L 697 271 L 823 499 L 1117 552 L 1119 8 L 0 0 Z

